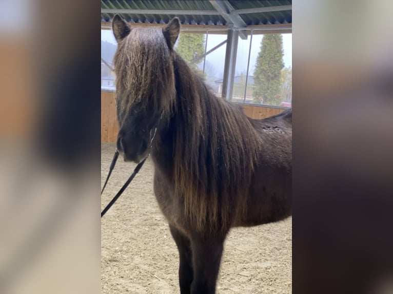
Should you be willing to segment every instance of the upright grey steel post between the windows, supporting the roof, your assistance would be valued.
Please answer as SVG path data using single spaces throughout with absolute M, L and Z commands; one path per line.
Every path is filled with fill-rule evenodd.
M 225 65 L 223 76 L 223 89 L 221 97 L 226 100 L 232 100 L 234 71 L 236 65 L 236 56 L 238 53 L 239 31 L 230 28 L 228 30 L 227 45 L 225 52 Z

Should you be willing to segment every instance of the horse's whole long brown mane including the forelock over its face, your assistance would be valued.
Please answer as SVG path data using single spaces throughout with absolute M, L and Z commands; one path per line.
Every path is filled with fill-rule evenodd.
M 169 50 L 161 30 L 132 29 L 114 64 L 118 111 L 137 104 L 174 122 L 172 184 L 185 216 L 201 232 L 228 228 L 247 207 L 262 145 L 250 121 Z

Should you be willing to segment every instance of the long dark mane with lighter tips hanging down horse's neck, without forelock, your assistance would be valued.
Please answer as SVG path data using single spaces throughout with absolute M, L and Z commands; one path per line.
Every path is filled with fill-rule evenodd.
M 241 108 L 216 97 L 177 53 L 173 65 L 175 194 L 199 230 L 227 228 L 246 209 L 261 137 Z

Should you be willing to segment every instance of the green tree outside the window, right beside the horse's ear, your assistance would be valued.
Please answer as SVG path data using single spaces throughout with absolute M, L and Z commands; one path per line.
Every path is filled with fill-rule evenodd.
M 203 60 L 198 57 L 205 53 L 205 35 L 181 33 L 175 50 L 192 69 L 202 73 L 197 66 Z

